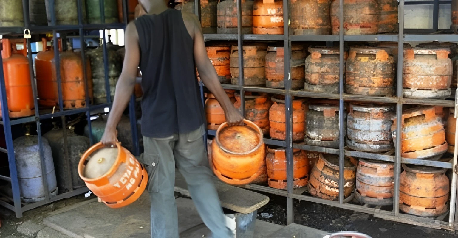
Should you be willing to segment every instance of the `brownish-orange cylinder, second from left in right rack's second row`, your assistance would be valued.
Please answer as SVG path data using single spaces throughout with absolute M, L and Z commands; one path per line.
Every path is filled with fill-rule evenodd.
M 226 0 L 227 1 L 227 0 Z M 244 85 L 266 85 L 266 54 L 265 43 L 247 44 L 243 46 Z M 239 84 L 239 47 L 232 46 L 230 55 L 231 84 Z

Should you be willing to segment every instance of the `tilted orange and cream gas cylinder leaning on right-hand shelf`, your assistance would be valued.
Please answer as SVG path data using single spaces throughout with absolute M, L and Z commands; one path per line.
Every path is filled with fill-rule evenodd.
M 447 152 L 445 130 L 433 106 L 414 107 L 402 113 L 402 157 L 408 159 L 438 160 Z M 391 127 L 396 140 L 396 118 Z

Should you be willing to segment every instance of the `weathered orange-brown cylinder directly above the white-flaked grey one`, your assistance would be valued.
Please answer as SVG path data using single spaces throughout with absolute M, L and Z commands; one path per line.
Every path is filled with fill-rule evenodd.
M 393 96 L 395 63 L 382 48 L 352 47 L 345 69 L 349 94 Z

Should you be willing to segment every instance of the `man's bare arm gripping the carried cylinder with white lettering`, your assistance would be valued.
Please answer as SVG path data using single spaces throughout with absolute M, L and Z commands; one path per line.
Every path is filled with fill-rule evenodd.
M 137 68 L 140 63 L 140 46 L 135 23 L 131 21 L 125 29 L 125 57 L 122 72 L 116 84 L 113 106 L 108 116 L 101 142 L 114 144 L 117 141 L 116 126 L 135 89 Z

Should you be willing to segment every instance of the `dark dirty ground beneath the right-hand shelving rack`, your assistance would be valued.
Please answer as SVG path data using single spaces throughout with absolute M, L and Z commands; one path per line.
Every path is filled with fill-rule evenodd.
M 266 194 L 269 203 L 258 211 L 258 219 L 286 225 L 286 198 Z M 308 201 L 294 200 L 294 223 L 315 229 L 338 232 L 356 231 L 372 238 L 457 238 L 454 233 L 404 223 L 383 220 L 372 215 L 354 212 Z

